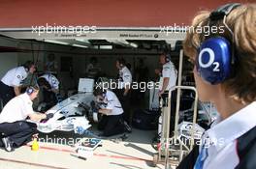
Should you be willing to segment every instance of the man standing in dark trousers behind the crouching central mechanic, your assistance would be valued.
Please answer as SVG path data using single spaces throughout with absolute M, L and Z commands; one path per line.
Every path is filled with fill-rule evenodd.
M 122 107 L 124 109 L 124 120 L 130 124 L 131 112 L 130 112 L 130 88 L 132 85 L 132 73 L 125 66 L 125 60 L 123 58 L 118 58 L 116 60 L 116 68 L 119 70 L 118 73 L 118 84 L 116 93 L 117 98 L 120 100 Z

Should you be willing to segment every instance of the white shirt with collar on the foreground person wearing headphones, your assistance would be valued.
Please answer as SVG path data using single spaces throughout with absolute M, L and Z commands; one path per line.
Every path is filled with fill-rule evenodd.
M 223 121 L 219 117 L 205 132 L 203 140 L 207 139 L 209 144 L 204 169 L 233 169 L 239 164 L 237 139 L 256 127 L 255 110 L 256 102 L 252 102 Z

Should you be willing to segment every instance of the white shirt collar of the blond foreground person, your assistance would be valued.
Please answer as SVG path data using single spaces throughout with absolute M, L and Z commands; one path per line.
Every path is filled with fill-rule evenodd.
M 218 117 L 220 118 L 220 117 Z M 240 109 L 229 118 L 214 125 L 206 134 L 211 143 L 219 151 L 227 144 L 239 138 L 245 132 L 256 126 L 256 101 Z

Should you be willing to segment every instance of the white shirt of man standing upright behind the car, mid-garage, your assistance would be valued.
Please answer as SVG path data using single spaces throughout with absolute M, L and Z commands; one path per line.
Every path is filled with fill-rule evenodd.
M 127 67 L 119 70 L 118 89 L 123 89 L 125 85 L 131 85 L 132 73 Z

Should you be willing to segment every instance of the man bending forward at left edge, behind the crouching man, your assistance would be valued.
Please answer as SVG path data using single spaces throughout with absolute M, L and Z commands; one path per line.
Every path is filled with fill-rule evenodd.
M 0 98 L 3 106 L 10 100 L 20 95 L 22 81 L 28 73 L 34 73 L 36 66 L 32 61 L 27 61 L 24 65 L 7 71 L 0 81 Z

